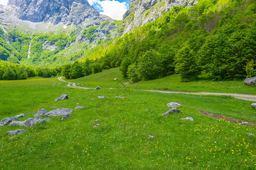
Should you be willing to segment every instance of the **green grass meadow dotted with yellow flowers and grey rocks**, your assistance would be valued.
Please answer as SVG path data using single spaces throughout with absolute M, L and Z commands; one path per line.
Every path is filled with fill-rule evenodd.
M 255 134 L 255 126 L 216 120 L 197 112 L 255 122 L 256 111 L 250 106 L 253 102 L 229 96 L 159 94 L 141 90 L 154 89 L 154 83 L 167 88 L 167 79 L 171 81 L 176 76 L 140 82 L 138 89 L 133 84 L 121 86 L 119 82 L 127 80 L 116 69 L 70 80 L 84 87 L 102 87 L 96 91 L 68 88 L 57 78 L 0 81 L 1 119 L 26 113 L 26 117 L 20 118 L 26 120 L 39 109 L 53 110 L 54 105 L 74 109 L 80 103 L 85 107 L 75 110 L 69 120 L 59 121 L 59 117 L 55 117 L 34 128 L 1 126 L 0 168 L 255 169 L 255 135 L 247 134 Z M 211 83 L 208 80 L 200 82 L 205 85 L 197 88 L 198 91 L 213 90 L 207 85 Z M 231 86 L 233 82 L 220 84 L 223 88 L 226 86 L 224 90 L 228 89 L 225 84 Z M 176 83 L 177 86 L 182 87 L 180 90 L 193 89 L 183 83 Z M 234 83 L 228 92 L 240 93 L 240 86 L 241 82 Z M 255 89 L 244 88 L 247 94 L 250 88 Z M 54 101 L 61 94 L 70 97 Z M 106 99 L 97 99 L 97 96 L 106 96 Z M 166 104 L 175 101 L 183 105 L 179 108 L 182 113 L 161 116 L 170 109 Z M 194 121 L 181 120 L 187 116 Z M 94 120 L 99 120 L 97 128 L 92 127 Z M 28 132 L 9 139 L 6 131 L 15 129 L 28 129 Z M 155 137 L 150 138 L 148 134 Z

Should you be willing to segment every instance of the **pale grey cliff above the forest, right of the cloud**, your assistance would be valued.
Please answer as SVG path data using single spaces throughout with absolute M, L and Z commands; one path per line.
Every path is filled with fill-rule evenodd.
M 130 0 L 129 10 L 123 15 L 123 24 L 125 24 L 123 33 L 154 22 L 173 6 L 193 6 L 196 2 L 196 0 Z

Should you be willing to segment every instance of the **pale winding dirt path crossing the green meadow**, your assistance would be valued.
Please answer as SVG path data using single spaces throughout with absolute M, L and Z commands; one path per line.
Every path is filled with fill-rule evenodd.
M 71 88 L 80 88 L 80 89 L 85 89 L 85 90 L 94 89 L 94 88 L 76 86 L 76 83 L 67 82 L 67 81 L 63 80 L 62 78 L 63 78 L 63 76 L 59 77 L 58 79 L 59 79 L 61 82 L 68 83 L 68 85 L 67 85 L 68 87 L 71 87 Z M 113 88 L 109 88 L 109 89 L 113 89 Z M 249 100 L 249 101 L 256 101 L 256 95 L 245 95 L 245 94 L 229 94 L 229 93 L 216 93 L 216 92 L 154 91 L 154 90 L 144 90 L 144 91 L 159 92 L 159 93 L 163 93 L 163 94 L 214 95 L 214 96 L 226 95 L 226 96 L 233 96 L 233 97 L 236 97 L 237 99 Z

